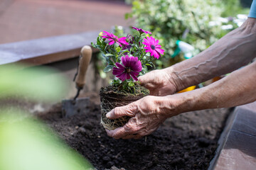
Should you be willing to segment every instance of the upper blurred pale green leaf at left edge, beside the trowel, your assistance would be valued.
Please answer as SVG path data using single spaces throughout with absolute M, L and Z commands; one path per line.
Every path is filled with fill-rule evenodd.
M 54 69 L 46 67 L 1 66 L 0 98 L 26 96 L 33 100 L 58 101 L 68 82 Z

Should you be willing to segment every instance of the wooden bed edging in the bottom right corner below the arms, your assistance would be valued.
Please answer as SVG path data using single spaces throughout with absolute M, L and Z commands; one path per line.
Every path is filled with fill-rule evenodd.
M 209 170 L 256 169 L 256 102 L 235 108 Z

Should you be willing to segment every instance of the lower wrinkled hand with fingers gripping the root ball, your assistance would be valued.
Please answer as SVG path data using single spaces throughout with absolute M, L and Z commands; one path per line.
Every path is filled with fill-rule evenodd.
M 132 118 L 121 128 L 106 130 L 107 135 L 115 139 L 139 139 L 151 134 L 169 116 L 166 112 L 164 97 L 146 96 L 127 106 L 114 108 L 107 113 L 107 118 L 119 118 L 128 115 Z

